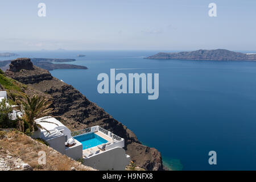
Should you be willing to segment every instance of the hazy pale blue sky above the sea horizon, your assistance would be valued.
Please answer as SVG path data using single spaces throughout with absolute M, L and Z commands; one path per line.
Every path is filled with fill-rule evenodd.
M 208 15 L 209 3 L 216 3 L 217 17 Z M 0 52 L 256 51 L 255 19 L 255 0 L 8 0 L 0 2 Z

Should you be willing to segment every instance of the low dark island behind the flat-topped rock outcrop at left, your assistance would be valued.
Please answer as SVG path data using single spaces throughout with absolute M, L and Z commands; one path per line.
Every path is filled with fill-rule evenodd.
M 12 60 L 0 61 L 0 68 L 5 71 L 9 68 Z M 54 64 L 75 61 L 75 59 L 51 59 L 51 58 L 31 58 L 31 61 L 37 67 L 52 71 L 54 69 L 88 69 L 87 67 L 75 64 Z

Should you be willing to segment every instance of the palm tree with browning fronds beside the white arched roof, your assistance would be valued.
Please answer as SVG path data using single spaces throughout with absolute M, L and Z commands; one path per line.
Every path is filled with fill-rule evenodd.
M 35 96 L 35 95 L 32 98 L 26 96 L 26 101 L 24 102 L 21 100 L 21 102 L 24 110 L 23 118 L 30 125 L 31 132 L 33 133 L 35 130 L 38 130 L 38 128 L 40 128 L 40 129 L 46 130 L 49 133 L 49 131 L 45 129 L 43 126 L 41 126 L 40 123 L 43 123 L 43 122 L 53 123 L 53 122 L 49 122 L 49 121 L 35 122 L 35 119 L 50 115 L 52 113 L 53 108 L 49 108 L 49 106 L 51 106 L 52 102 L 42 96 Z M 53 123 L 53 124 L 57 125 L 56 123 Z

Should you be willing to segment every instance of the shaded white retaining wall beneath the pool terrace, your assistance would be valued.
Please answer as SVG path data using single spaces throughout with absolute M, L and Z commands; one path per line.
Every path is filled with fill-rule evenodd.
M 112 148 L 84 160 L 85 166 L 100 171 L 123 171 L 129 163 L 130 156 L 126 155 L 121 147 Z

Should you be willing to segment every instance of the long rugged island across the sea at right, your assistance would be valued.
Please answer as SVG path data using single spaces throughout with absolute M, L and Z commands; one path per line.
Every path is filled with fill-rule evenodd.
M 210 60 L 210 61 L 256 61 L 256 53 L 233 52 L 226 49 L 214 49 L 187 52 L 159 52 L 144 59 Z

